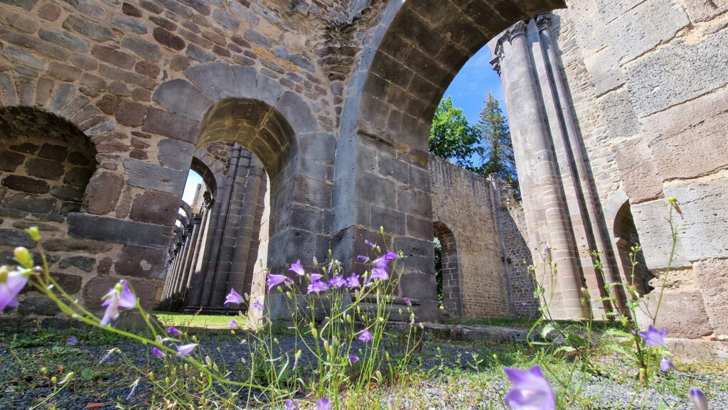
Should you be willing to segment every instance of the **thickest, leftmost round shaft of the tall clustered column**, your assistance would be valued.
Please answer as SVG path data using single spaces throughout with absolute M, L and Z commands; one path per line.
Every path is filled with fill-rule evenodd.
M 576 263 L 574 240 L 566 213 L 558 163 L 553 141 L 547 129 L 534 62 L 531 60 L 526 24 L 509 28 L 497 43 L 506 105 L 510 115 L 511 135 L 519 179 L 523 186 L 524 208 L 528 218 L 532 247 L 541 248 L 542 240 L 552 249 L 558 267 L 555 283 L 546 281 L 547 294 L 554 291 L 552 313 L 560 318 L 583 318 L 580 303 L 582 272 Z M 535 242 L 534 240 L 538 240 Z M 539 261 L 540 257 L 534 258 Z

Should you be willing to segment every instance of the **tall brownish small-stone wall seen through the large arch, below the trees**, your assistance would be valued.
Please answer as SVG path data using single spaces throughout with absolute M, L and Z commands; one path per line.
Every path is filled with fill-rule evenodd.
M 430 157 L 430 181 L 432 220 L 436 228 L 443 226 L 435 231 L 446 228 L 452 235 L 452 240 L 440 238 L 441 243 L 448 243 L 443 243 L 443 253 L 452 245 L 455 248 L 460 314 L 468 318 L 529 316 L 535 306 L 533 283 L 525 267 L 515 266 L 530 260 L 521 230 L 522 213 L 516 208 L 508 210 L 507 205 L 501 209 L 491 181 L 443 159 Z M 513 207 L 513 196 L 510 200 Z M 503 244 L 497 213 L 502 218 Z M 521 219 L 520 228 L 513 215 Z M 443 272 L 447 268 L 443 266 Z M 443 285 L 447 288 L 448 283 Z

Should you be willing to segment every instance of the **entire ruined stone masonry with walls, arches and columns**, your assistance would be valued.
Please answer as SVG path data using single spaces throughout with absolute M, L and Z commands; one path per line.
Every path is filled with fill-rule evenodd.
M 654 309 L 676 197 L 658 326 L 728 334 L 727 27 L 715 0 L 0 0 L 0 264 L 39 251 L 22 230 L 39 226 L 52 275 L 92 309 L 124 278 L 148 308 L 214 312 L 329 249 L 363 272 L 384 226 L 422 320 L 537 315 L 526 266 L 545 246 L 555 315 L 601 317 L 625 295 L 580 299 L 605 281 Z M 427 154 L 486 43 L 522 207 Z M 0 326 L 63 326 L 22 297 Z

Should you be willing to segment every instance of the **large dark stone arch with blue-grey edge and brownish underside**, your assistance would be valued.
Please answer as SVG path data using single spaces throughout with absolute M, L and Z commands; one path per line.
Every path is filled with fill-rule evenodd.
M 393 1 L 368 33 L 370 45 L 349 82 L 341 119 L 333 245 L 337 254 L 351 252 L 344 260 L 354 260 L 360 242 L 373 240 L 384 226 L 408 255 L 401 291 L 422 300 L 423 318 L 438 316 L 427 176 L 432 114 L 451 79 L 483 44 L 518 20 L 564 5 Z

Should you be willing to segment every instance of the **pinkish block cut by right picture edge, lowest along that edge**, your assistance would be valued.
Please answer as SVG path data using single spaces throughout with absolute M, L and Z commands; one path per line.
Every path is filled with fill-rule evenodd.
M 707 259 L 693 264 L 695 277 L 703 293 L 705 312 L 716 334 L 728 335 L 728 260 Z

